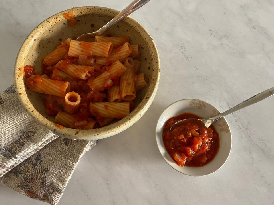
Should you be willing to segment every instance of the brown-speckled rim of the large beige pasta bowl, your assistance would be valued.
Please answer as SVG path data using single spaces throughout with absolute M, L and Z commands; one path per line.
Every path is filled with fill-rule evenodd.
M 83 6 L 83 7 L 75 7 L 74 9 L 74 16 L 84 16 L 84 15 L 108 15 L 110 17 L 114 17 L 119 13 L 119 11 L 107 8 L 107 7 L 98 7 L 98 6 Z M 79 9 L 82 11 L 82 13 L 77 12 L 76 9 Z M 29 46 L 30 42 L 35 39 L 35 36 L 39 35 L 39 29 L 47 24 L 49 26 L 49 22 L 51 22 L 52 19 L 55 19 L 56 17 L 62 17 L 63 13 L 68 12 L 70 9 L 61 11 L 57 14 L 52 15 L 51 17 L 45 19 L 43 22 L 41 22 L 38 26 L 36 26 L 30 34 L 26 37 L 23 44 L 21 45 L 16 60 L 15 60 L 15 67 L 14 67 L 14 84 L 15 84 L 15 90 L 18 96 L 18 99 L 20 103 L 23 105 L 23 108 L 27 111 L 27 113 L 33 117 L 35 121 L 37 121 L 41 126 L 46 127 L 54 134 L 57 134 L 58 136 L 64 136 L 66 138 L 70 139 L 77 139 L 77 140 L 97 140 L 102 139 L 106 137 L 113 136 L 115 134 L 118 134 L 124 130 L 126 130 L 128 127 L 132 126 L 135 122 L 137 122 L 144 113 L 148 110 L 149 106 L 151 105 L 155 95 L 156 91 L 158 89 L 159 79 L 160 79 L 160 59 L 158 50 L 156 48 L 156 45 L 150 36 L 150 34 L 147 32 L 147 30 L 135 19 L 133 19 L 130 16 L 127 16 L 123 19 L 123 21 L 130 25 L 138 34 L 141 35 L 142 38 L 144 36 L 149 37 L 146 38 L 147 45 L 150 45 L 148 51 L 150 52 L 150 55 L 152 58 L 152 75 L 151 75 L 151 82 L 148 87 L 147 93 L 140 102 L 140 104 L 125 118 L 122 118 L 121 120 L 110 124 L 108 126 L 104 126 L 102 128 L 97 129 L 91 129 L 91 130 L 77 130 L 72 128 L 64 128 L 60 129 L 55 125 L 54 122 L 51 122 L 44 116 L 42 116 L 31 104 L 29 101 L 29 98 L 27 96 L 26 90 L 25 90 L 25 84 L 24 84 L 24 77 L 23 77 L 23 67 L 24 65 L 24 56 L 27 56 L 28 50 L 31 48 Z M 105 12 L 105 13 L 104 13 Z M 60 18 L 59 18 L 60 19 Z M 64 19 L 62 19 L 64 20 Z M 51 23 L 50 26 L 52 26 L 54 23 Z M 44 28 L 45 29 L 45 28 Z M 77 135 L 76 135 L 77 133 Z M 79 137 L 78 137 L 79 136 Z

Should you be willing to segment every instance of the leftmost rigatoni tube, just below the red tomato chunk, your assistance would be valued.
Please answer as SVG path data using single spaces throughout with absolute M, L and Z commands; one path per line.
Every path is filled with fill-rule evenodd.
M 26 79 L 28 89 L 38 93 L 65 97 L 70 91 L 70 83 L 42 78 L 40 75 L 32 75 Z

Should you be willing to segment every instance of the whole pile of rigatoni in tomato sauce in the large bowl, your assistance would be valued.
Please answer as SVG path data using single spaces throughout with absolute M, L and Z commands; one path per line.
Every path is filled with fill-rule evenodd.
M 135 108 L 136 91 L 147 85 L 144 74 L 135 74 L 139 46 L 130 45 L 128 36 L 94 41 L 61 42 L 43 58 L 41 76 L 24 67 L 28 89 L 47 94 L 45 111 L 56 115 L 57 129 L 94 129 L 122 119 Z

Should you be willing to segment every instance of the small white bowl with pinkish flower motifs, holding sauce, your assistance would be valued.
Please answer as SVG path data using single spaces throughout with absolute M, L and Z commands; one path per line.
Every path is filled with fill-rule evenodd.
M 202 167 L 178 166 L 166 151 L 163 143 L 162 133 L 164 124 L 169 118 L 184 112 L 191 112 L 205 119 L 220 113 L 219 110 L 217 110 L 211 104 L 198 99 L 183 99 L 170 104 L 160 115 L 156 126 L 156 142 L 159 151 L 166 162 L 178 172 L 189 176 L 209 175 L 220 169 L 229 157 L 232 144 L 231 130 L 225 118 L 220 118 L 214 122 L 213 125 L 220 137 L 220 148 L 215 158 Z

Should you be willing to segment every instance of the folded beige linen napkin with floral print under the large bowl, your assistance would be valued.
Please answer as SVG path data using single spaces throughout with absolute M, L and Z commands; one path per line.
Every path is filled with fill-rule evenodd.
M 98 140 L 61 138 L 23 109 L 15 85 L 0 94 L 0 184 L 57 204 L 82 155 Z

